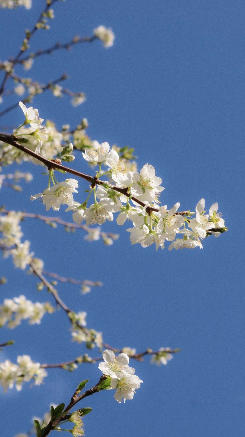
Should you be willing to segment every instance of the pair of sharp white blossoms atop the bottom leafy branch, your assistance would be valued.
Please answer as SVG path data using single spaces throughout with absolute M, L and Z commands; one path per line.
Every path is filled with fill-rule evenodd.
M 104 375 L 111 378 L 110 387 L 116 389 L 114 398 L 117 402 L 133 399 L 136 388 L 140 387 L 141 379 L 135 375 L 135 369 L 128 366 L 129 358 L 126 354 L 115 356 L 112 350 L 103 352 L 104 362 L 99 364 L 99 369 Z

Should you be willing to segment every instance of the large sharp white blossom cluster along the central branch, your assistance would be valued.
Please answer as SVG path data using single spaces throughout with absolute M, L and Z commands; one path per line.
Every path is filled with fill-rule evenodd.
M 70 143 L 61 152 L 62 154 L 71 153 L 73 149 Z M 196 207 L 196 217 L 192 218 L 194 212 L 178 212 L 180 203 L 167 209 L 167 205 L 159 207 L 159 196 L 164 190 L 161 186 L 162 179 L 155 176 L 155 169 L 150 164 L 145 164 L 140 172 L 128 170 L 126 163 L 120 160 L 116 150 L 110 149 L 107 142 L 102 144 L 93 141 L 90 148 L 83 152 L 84 159 L 93 165 L 99 165 L 96 174 L 97 178 L 103 178 L 108 175 L 115 187 L 110 181 L 105 181 L 102 185 L 90 187 L 90 193 L 85 201 L 79 203 L 73 199 L 73 193 L 78 193 L 78 181 L 75 179 L 66 179 L 62 182 L 55 182 L 53 186 L 49 185 L 42 193 L 31 196 L 31 200 L 41 198 L 48 211 L 52 208 L 59 211 L 61 205 L 67 205 L 66 211 L 73 211 L 73 221 L 77 224 L 86 221 L 86 225 L 102 225 L 106 220 L 112 221 L 114 214 L 118 213 L 117 224 L 123 225 L 126 221 L 132 222 L 132 227 L 128 228 L 130 232 L 130 241 L 132 244 L 140 243 L 142 247 L 155 244 L 156 250 L 161 247 L 164 249 L 165 242 L 170 242 L 169 250 L 173 248 L 178 250 L 184 247 L 194 249 L 200 247 L 201 241 L 207 236 L 207 233 L 214 234 L 216 237 L 220 232 L 227 230 L 224 227 L 224 220 L 220 213 L 217 213 L 218 204 L 214 203 L 207 214 L 205 211 L 205 201 L 202 198 Z M 102 164 L 107 167 L 102 171 Z M 138 205 L 137 201 L 129 198 L 117 191 L 118 188 L 126 188 L 137 201 L 143 202 L 145 206 Z M 116 188 L 116 189 L 115 189 Z M 90 195 L 94 197 L 94 203 L 87 206 Z M 156 208 L 152 211 L 149 208 Z

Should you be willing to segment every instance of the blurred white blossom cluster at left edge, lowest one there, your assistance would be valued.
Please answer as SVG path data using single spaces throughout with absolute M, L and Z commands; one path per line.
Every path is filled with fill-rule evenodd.
M 43 378 L 48 375 L 41 368 L 40 363 L 31 361 L 29 355 L 19 355 L 17 363 L 11 363 L 10 360 L 0 363 L 0 382 L 5 392 L 8 387 L 13 388 L 14 384 L 19 392 L 23 382 L 31 381 L 31 379 L 34 379 L 34 385 L 40 385 L 43 382 Z

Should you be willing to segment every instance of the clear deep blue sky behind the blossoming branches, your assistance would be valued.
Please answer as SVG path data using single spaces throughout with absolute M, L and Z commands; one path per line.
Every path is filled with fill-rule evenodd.
M 43 3 L 34 0 L 29 11 L 1 11 L 1 60 L 17 54 L 24 29 L 32 28 Z M 47 91 L 33 102 L 41 117 L 55 121 L 57 128 L 66 123 L 75 128 L 86 117 L 92 139 L 132 146 L 139 169 L 145 163 L 155 167 L 165 187 L 162 205 L 170 208 L 179 201 L 180 210 L 194 211 L 203 197 L 208 210 L 217 201 L 229 228 L 218 239 L 206 239 L 203 250 L 155 252 L 152 246 L 131 246 L 127 224 L 119 227 L 115 221 L 103 230 L 119 232 L 120 238 L 106 247 L 85 242 L 83 231 L 65 234 L 59 227 L 25 220 L 24 239 L 47 270 L 103 281 L 102 288 L 85 296 L 73 285 L 57 288 L 69 307 L 87 312 L 88 326 L 101 330 L 105 342 L 137 352 L 182 348 L 160 368 L 147 357 L 143 363 L 130 362 L 143 380 L 132 401 L 118 404 L 114 393 L 105 391 L 82 402 L 80 407 L 93 408 L 85 418 L 86 436 L 242 437 L 244 2 L 67 0 L 54 9 L 51 29 L 36 32 L 31 51 L 92 35 L 100 24 L 111 27 L 116 38 L 110 49 L 95 41 L 35 60 L 27 77 L 46 83 L 66 71 L 70 79 L 62 85 L 87 96 L 73 108 L 69 97 L 58 99 Z M 6 104 L 17 100 L 4 99 Z M 22 121 L 17 108 L 1 123 Z M 89 172 L 79 153 L 72 167 Z M 21 193 L 4 188 L 0 204 L 45 214 L 41 203 L 29 201 L 30 194 L 46 187 L 41 167 L 22 164 L 20 170 L 33 172 L 33 182 Z M 87 186 L 80 180 L 79 187 L 76 200 L 83 201 Z M 71 220 L 64 210 L 57 215 Z M 45 290 L 35 291 L 37 279 L 12 270 L 10 259 L 1 260 L 1 274 L 8 279 L 1 302 L 21 294 L 52 302 Z M 12 338 L 15 344 L 4 348 L 1 361 L 16 362 L 17 355 L 28 354 L 34 361 L 55 363 L 86 352 L 70 342 L 62 311 L 45 315 L 40 326 L 23 321 L 14 331 L 2 329 L 1 342 Z M 26 383 L 21 392 L 1 391 L 2 436 L 28 431 L 32 416 L 42 416 L 52 402 L 67 405 L 80 381 L 89 379 L 87 387 L 92 387 L 100 375 L 96 364 L 83 364 L 72 374 L 50 369 L 41 387 L 30 389 Z

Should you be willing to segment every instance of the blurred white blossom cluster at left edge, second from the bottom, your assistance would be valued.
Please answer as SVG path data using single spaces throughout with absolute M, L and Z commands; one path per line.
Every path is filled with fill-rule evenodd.
M 14 299 L 4 299 L 0 305 L 0 327 L 7 323 L 8 328 L 14 328 L 21 324 L 21 320 L 29 319 L 29 324 L 41 323 L 45 312 L 53 312 L 54 308 L 49 302 L 33 303 L 21 295 Z

